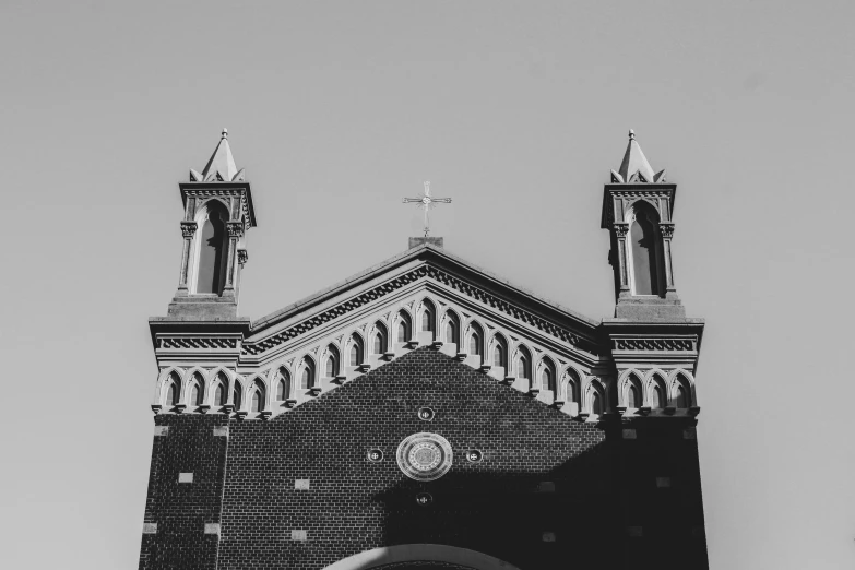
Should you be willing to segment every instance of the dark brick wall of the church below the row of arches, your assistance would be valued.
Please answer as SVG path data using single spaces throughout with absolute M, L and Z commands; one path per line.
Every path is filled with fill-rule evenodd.
M 423 406 L 436 412 L 431 421 L 417 417 Z M 158 415 L 169 432 L 155 437 L 145 514 L 157 533 L 143 535 L 140 568 L 316 570 L 411 543 L 470 548 L 523 570 L 706 568 L 690 424 L 639 421 L 573 420 L 431 348 L 269 421 Z M 624 439 L 628 427 L 636 439 Z M 395 461 L 419 431 L 454 451 L 434 482 L 409 479 Z M 367 459 L 375 448 L 379 463 Z M 470 449 L 483 461 L 470 463 Z M 178 483 L 185 472 L 192 484 Z M 427 507 L 416 502 L 425 491 Z M 219 536 L 204 534 L 211 522 L 222 523 Z

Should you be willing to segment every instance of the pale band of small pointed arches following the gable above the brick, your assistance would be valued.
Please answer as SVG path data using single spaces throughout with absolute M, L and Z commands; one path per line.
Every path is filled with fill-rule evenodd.
M 425 312 L 428 311 L 426 320 Z M 402 319 L 407 319 L 411 325 L 411 339 L 407 342 L 395 342 L 397 339 L 397 325 Z M 460 343 L 454 346 L 447 342 L 446 325 L 453 320 L 459 326 L 456 334 Z M 378 325 L 382 325 L 383 331 Z M 425 328 L 428 330 L 424 330 Z M 477 339 L 478 351 L 472 348 L 472 335 L 478 331 L 483 337 Z M 375 336 L 384 334 L 385 348 L 383 354 L 375 353 Z M 361 343 L 363 363 L 352 366 L 349 363 L 351 346 L 354 342 Z M 266 418 L 287 412 L 289 408 L 310 401 L 319 394 L 334 390 L 337 385 L 355 379 L 368 370 L 382 366 L 409 351 L 427 344 L 434 344 L 441 352 L 455 357 L 473 368 L 480 369 L 499 381 L 513 380 L 510 385 L 521 392 L 534 395 L 547 405 L 554 405 L 571 416 L 591 417 L 596 419 L 598 412 L 605 412 L 613 407 L 609 402 L 609 379 L 603 377 L 603 372 L 594 370 L 590 363 L 580 361 L 579 355 L 572 347 L 565 351 L 555 346 L 537 344 L 531 339 L 522 340 L 519 333 L 497 323 L 489 317 L 473 314 L 471 309 L 456 306 L 444 298 L 430 292 L 419 292 L 411 298 L 400 301 L 393 309 L 380 308 L 378 311 L 363 317 L 358 322 L 344 329 L 335 329 L 329 334 L 313 339 L 310 345 L 306 342 L 294 343 L 283 351 L 270 364 L 265 363 L 263 370 L 240 370 L 224 366 L 204 368 L 191 367 L 164 367 L 162 368 L 155 389 L 155 413 L 206 413 L 236 412 L 248 418 Z M 494 349 L 503 344 L 507 348 L 504 361 L 508 369 L 492 366 Z M 325 376 L 326 359 L 331 351 L 337 353 L 339 375 L 336 378 Z M 521 352 L 531 355 L 529 363 L 530 378 L 518 377 L 515 369 Z M 304 371 L 309 368 L 309 387 L 302 387 Z M 548 390 L 543 385 L 543 371 L 549 369 L 555 372 L 553 382 L 556 390 Z M 284 400 L 277 399 L 276 385 L 280 371 L 288 375 L 288 394 Z M 624 387 L 630 371 L 620 376 Z M 652 373 L 653 371 L 651 371 Z M 677 378 L 681 375 L 691 387 L 691 400 L 693 395 L 693 377 L 690 372 L 678 369 L 670 372 L 656 370 L 657 373 L 667 377 L 672 388 L 669 401 L 676 399 Z M 644 375 L 646 378 L 649 375 Z M 179 382 L 179 401 L 173 404 L 167 401 L 169 384 Z M 202 405 L 191 402 L 192 382 L 201 382 Z M 217 382 L 226 385 L 226 404 L 216 402 Z M 259 412 L 251 409 L 253 392 L 258 390 L 263 394 L 263 402 Z M 622 388 L 618 392 L 618 405 L 624 402 Z M 595 400 L 598 397 L 598 403 Z M 239 405 L 238 405 L 239 404 Z

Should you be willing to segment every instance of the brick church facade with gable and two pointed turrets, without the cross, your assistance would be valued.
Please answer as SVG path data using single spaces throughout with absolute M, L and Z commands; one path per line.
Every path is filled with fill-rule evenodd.
M 675 287 L 676 185 L 631 132 L 604 187 L 598 320 L 411 238 L 253 321 L 256 212 L 225 131 L 179 189 L 141 570 L 708 567 L 703 320 Z

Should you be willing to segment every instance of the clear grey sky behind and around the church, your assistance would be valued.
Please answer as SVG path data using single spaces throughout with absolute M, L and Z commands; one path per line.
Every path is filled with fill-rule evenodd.
M 613 311 L 627 130 L 678 183 L 712 568 L 855 567 L 855 3 L 0 5 L 7 568 L 134 568 L 150 316 L 178 181 L 228 127 L 252 182 L 242 314 L 391 257 L 431 180 L 453 253 Z M 845 215 L 844 215 L 845 214 Z

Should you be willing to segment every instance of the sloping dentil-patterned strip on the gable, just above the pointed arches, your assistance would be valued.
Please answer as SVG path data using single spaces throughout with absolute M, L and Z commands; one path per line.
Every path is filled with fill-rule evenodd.
M 587 353 L 596 354 L 596 346 L 593 343 L 582 340 L 571 331 L 558 326 L 547 321 L 546 319 L 532 314 L 529 311 L 520 309 L 519 307 L 515 307 L 514 305 L 511 305 L 510 302 L 502 300 L 479 287 L 475 287 L 458 277 L 430 266 L 417 268 L 408 273 L 395 277 L 388 283 L 384 283 L 383 285 L 379 285 L 366 293 L 363 293 L 353 299 L 330 308 L 326 311 L 323 311 L 298 324 L 289 326 L 288 329 L 278 332 L 269 339 L 250 343 L 245 342 L 241 347 L 242 354 L 259 355 L 426 276 L 442 283 L 443 285 L 448 285 L 454 290 L 462 293 L 472 299 L 480 301 L 482 304 L 487 305 L 494 309 L 497 309 L 509 317 L 513 317 L 514 319 L 523 321 L 524 323 L 536 328 L 541 332 L 549 334 Z

